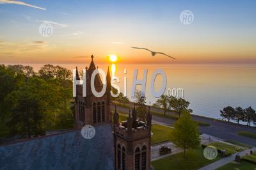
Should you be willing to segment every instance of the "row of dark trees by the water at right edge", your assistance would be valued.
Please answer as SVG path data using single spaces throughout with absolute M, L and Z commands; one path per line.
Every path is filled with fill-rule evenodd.
M 227 106 L 220 111 L 220 116 L 228 120 L 228 122 L 234 120 L 239 124 L 239 122 L 243 121 L 246 122 L 248 126 L 250 126 L 251 123 L 256 126 L 256 112 L 251 106 L 244 109 L 240 106 L 236 108 Z

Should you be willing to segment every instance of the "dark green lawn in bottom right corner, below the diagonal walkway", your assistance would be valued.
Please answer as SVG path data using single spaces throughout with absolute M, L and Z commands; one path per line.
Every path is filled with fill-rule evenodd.
M 250 162 L 246 162 L 241 160 L 241 162 L 230 162 L 223 167 L 219 167 L 216 170 L 254 170 L 256 168 L 256 164 L 252 164 Z

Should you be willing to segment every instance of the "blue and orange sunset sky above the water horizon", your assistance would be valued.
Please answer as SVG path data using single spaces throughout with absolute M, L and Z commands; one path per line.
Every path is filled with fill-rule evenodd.
M 256 1 L 0 0 L 0 63 L 256 63 Z M 180 21 L 193 12 L 191 24 Z M 51 36 L 39 33 L 51 24 Z M 177 58 L 131 47 L 164 52 Z

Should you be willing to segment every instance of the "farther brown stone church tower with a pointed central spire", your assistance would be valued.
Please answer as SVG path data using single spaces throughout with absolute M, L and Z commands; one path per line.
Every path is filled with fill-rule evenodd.
M 81 128 L 84 125 L 97 125 L 104 122 L 111 121 L 111 76 L 108 72 L 106 75 L 106 92 L 102 97 L 95 97 L 92 93 L 91 80 L 92 73 L 94 70 L 98 69 L 93 61 L 93 56 L 91 56 L 92 61 L 89 68 L 86 67 L 86 97 L 83 97 L 83 85 L 77 85 L 76 91 L 76 127 Z M 78 70 L 76 68 L 76 79 L 80 80 Z M 99 74 L 95 76 L 94 86 L 97 92 L 100 92 L 103 88 L 102 81 Z

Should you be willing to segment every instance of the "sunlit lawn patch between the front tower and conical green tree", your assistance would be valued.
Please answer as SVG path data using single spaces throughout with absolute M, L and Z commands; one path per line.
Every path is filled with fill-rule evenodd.
M 172 128 L 165 127 L 163 125 L 152 125 L 151 131 L 152 135 L 152 144 L 163 143 L 165 141 L 170 141 Z

